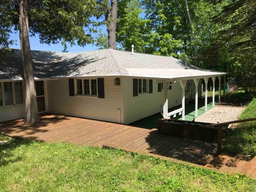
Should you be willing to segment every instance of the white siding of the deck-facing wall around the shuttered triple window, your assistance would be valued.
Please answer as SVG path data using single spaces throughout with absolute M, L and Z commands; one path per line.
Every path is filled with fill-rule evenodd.
M 105 98 L 69 96 L 68 78 L 47 82 L 49 112 L 121 123 L 121 86 L 105 77 Z

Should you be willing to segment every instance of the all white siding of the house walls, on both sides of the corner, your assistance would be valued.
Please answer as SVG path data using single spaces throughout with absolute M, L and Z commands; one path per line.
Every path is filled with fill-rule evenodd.
M 114 85 L 114 79 L 115 77 L 104 78 L 105 99 L 82 95 L 70 97 L 67 78 L 47 81 L 45 91 L 48 92 L 49 112 L 128 124 L 163 110 L 163 91 L 157 92 L 155 79 L 153 93 L 140 94 L 138 97 L 133 97 L 132 78 L 121 78 L 122 93 L 121 85 Z M 201 97 L 201 84 L 202 80 L 198 84 L 198 97 Z M 194 87 L 193 84 L 193 98 L 195 97 Z M 181 105 L 179 81 L 172 85 L 172 90 L 167 91 L 169 108 Z M 0 107 L 0 122 L 24 116 L 25 105 Z

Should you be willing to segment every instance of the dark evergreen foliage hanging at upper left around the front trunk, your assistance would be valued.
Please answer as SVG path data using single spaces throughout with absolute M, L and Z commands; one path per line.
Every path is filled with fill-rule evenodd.
M 11 27 L 19 30 L 19 0 L 0 0 L 0 46 L 10 45 Z M 29 32 L 41 43 L 69 42 L 84 46 L 92 43 L 90 18 L 95 13 L 94 0 L 28 1 Z M 2 30 L 4 33 L 2 33 Z M 3 35 L 2 35 L 3 34 Z

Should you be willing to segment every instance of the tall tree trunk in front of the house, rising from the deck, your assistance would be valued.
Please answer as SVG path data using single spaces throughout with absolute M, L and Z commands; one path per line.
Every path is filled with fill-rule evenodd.
M 25 123 L 39 122 L 34 71 L 32 66 L 31 51 L 29 45 L 28 5 L 27 0 L 20 0 L 20 49 L 25 82 Z

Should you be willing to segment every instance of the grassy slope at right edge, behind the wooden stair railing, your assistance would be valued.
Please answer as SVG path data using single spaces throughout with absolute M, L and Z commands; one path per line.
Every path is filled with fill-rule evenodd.
M 256 117 L 256 98 L 239 116 L 240 119 Z M 224 149 L 233 154 L 256 155 L 256 121 L 241 123 L 231 130 L 226 139 Z

